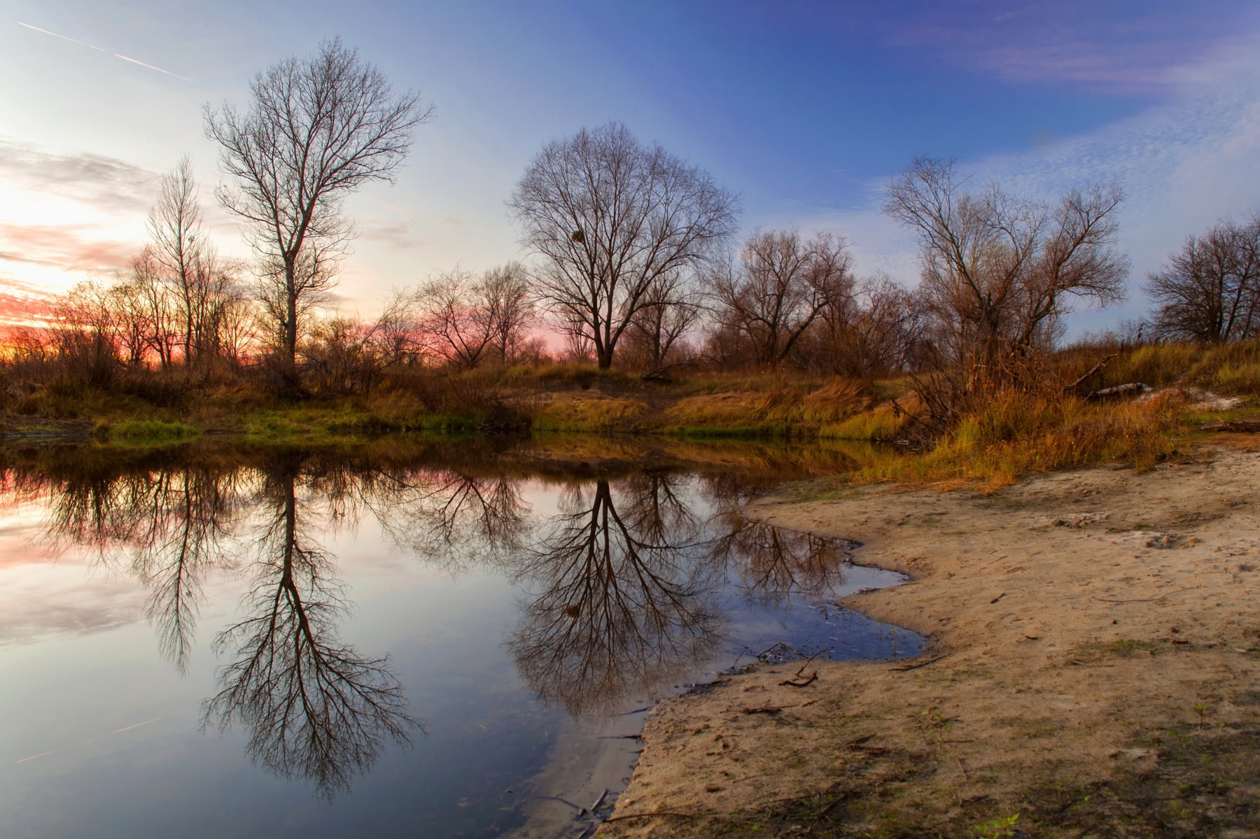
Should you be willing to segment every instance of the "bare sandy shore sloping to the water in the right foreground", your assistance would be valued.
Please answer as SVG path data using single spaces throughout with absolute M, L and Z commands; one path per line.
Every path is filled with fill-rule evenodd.
M 847 605 L 932 646 L 663 703 L 598 835 L 1260 836 L 1257 488 L 1260 455 L 1212 451 L 992 496 L 761 499 L 912 574 Z

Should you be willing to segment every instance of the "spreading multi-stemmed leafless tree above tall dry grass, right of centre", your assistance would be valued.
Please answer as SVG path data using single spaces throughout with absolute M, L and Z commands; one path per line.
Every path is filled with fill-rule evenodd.
M 888 186 L 885 213 L 919 234 L 920 297 L 945 360 L 987 379 L 1034 354 L 1085 300 L 1124 296 L 1128 257 L 1115 251 L 1118 185 L 1071 190 L 1057 207 L 998 185 L 965 191 L 949 161 L 920 157 Z

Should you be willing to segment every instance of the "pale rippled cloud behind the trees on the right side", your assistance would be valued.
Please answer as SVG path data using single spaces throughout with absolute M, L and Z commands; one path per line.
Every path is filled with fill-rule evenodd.
M 1183 238 L 1217 219 L 1260 212 L 1260 38 L 1169 71 L 1176 96 L 1147 111 L 1060 142 L 960 161 L 978 185 L 999 180 L 1012 193 L 1053 200 L 1066 189 L 1119 180 L 1120 246 L 1133 258 L 1131 300 L 1121 311 L 1079 319 L 1092 328 L 1145 311 L 1140 285 Z M 907 161 L 908 163 L 908 161 Z M 866 208 L 801 213 L 762 223 L 833 229 L 853 243 L 858 268 L 917 282 L 912 237 L 879 214 L 886 180 L 871 183 Z M 878 197 L 877 197 L 878 195 Z

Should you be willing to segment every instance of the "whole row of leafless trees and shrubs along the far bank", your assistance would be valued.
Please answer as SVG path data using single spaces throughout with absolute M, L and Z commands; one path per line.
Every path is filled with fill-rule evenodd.
M 335 314 L 329 290 L 354 236 L 344 198 L 392 180 L 431 113 L 339 40 L 260 73 L 244 108 L 208 106 L 227 176 L 215 197 L 253 260 L 217 254 L 185 157 L 163 179 L 129 270 L 73 288 L 47 328 L 10 336 L 10 388 L 163 374 L 253 377 L 301 396 L 554 360 L 654 378 L 794 369 L 910 375 L 944 428 L 995 392 L 1046 387 L 1065 316 L 1124 297 L 1118 185 L 1047 204 L 915 160 L 883 208 L 920 242 L 910 290 L 858 276 L 837 236 L 738 239 L 738 195 L 611 122 L 548 142 L 528 165 L 507 202 L 523 262 L 435 273 L 393 291 L 373 320 Z M 1191 237 L 1145 288 L 1155 309 L 1126 341 L 1254 336 L 1260 217 Z

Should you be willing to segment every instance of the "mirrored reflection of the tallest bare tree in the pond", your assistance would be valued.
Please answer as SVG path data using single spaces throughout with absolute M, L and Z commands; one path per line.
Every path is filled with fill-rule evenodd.
M 344 585 L 304 532 L 294 471 L 268 475 L 262 496 L 275 514 L 258 540 L 246 617 L 214 641 L 234 660 L 203 704 L 203 727 L 241 723 L 252 760 L 282 777 L 306 777 L 331 799 L 388 741 L 410 742 L 420 723 L 407 716 L 388 656 L 363 656 L 338 639 Z

